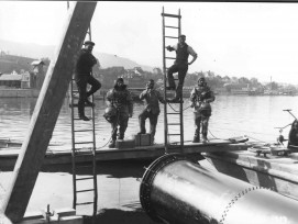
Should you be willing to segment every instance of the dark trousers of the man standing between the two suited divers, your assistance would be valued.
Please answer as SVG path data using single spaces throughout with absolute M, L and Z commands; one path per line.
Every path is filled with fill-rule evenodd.
M 153 114 L 152 112 L 148 112 L 146 109 L 142 111 L 142 113 L 139 115 L 140 131 L 142 133 L 146 133 L 146 127 L 145 127 L 146 119 L 150 119 L 150 134 L 151 134 L 152 139 L 154 139 L 155 132 L 156 132 L 156 124 L 158 120 L 158 113 Z

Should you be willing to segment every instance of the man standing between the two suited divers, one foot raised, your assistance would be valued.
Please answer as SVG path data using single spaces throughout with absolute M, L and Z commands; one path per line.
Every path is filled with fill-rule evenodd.
M 140 100 L 144 99 L 146 101 L 146 107 L 139 115 L 140 132 L 137 134 L 146 134 L 145 122 L 146 119 L 150 119 L 151 143 L 153 143 L 158 115 L 161 113 L 159 101 L 162 103 L 165 103 L 165 100 L 162 97 L 162 94 L 154 89 L 153 79 L 148 80 L 148 82 L 146 83 L 146 89 L 140 94 Z

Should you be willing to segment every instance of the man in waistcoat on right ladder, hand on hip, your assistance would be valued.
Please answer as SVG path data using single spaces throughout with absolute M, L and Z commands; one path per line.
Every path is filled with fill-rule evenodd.
M 188 70 L 188 66 L 191 65 L 198 57 L 197 53 L 190 46 L 188 46 L 185 41 L 186 36 L 180 35 L 177 45 L 166 47 L 169 52 L 176 51 L 176 60 L 174 65 L 170 66 L 167 70 L 167 90 L 176 89 L 173 74 L 178 72 L 178 87 L 176 89 L 176 96 L 174 99 L 169 100 L 169 102 L 179 102 L 179 100 L 183 98 L 184 80 Z M 192 56 L 192 60 L 190 63 L 188 63 L 189 55 Z

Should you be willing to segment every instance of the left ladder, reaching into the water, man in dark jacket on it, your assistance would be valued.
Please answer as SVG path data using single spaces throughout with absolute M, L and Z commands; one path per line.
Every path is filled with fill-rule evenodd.
M 89 34 L 89 40 L 91 41 L 91 32 L 90 26 L 87 32 Z M 76 88 L 75 79 L 73 78 L 70 82 L 70 104 L 71 108 L 71 157 L 73 157 L 73 189 L 74 189 L 74 201 L 73 208 L 76 209 L 78 205 L 87 205 L 93 204 L 93 221 L 97 214 L 97 199 L 98 199 L 98 190 L 97 190 L 97 169 L 96 169 L 96 128 L 95 128 L 95 107 L 92 105 L 85 105 L 85 110 L 89 110 L 90 121 L 81 121 L 78 117 L 78 99 L 77 96 L 78 90 Z M 93 103 L 93 96 L 90 96 L 91 102 Z M 88 125 L 89 127 L 85 127 Z M 84 135 L 84 139 L 79 141 L 78 135 Z M 85 141 L 85 138 L 89 141 Z M 91 138 L 91 139 L 90 139 Z M 85 161 L 86 160 L 86 161 Z M 81 163 L 84 161 L 84 163 Z M 88 163 L 88 165 L 87 165 Z M 77 172 L 86 171 L 88 169 L 87 177 L 79 177 Z M 91 168 L 91 170 L 90 170 Z M 89 175 L 91 172 L 91 175 Z M 81 189 L 78 186 L 82 184 L 86 181 L 86 184 L 92 181 L 92 188 Z M 85 184 L 85 186 L 86 186 Z M 84 201 L 77 202 L 78 194 L 90 193 L 92 192 L 92 201 Z M 82 195 L 81 195 L 82 197 Z

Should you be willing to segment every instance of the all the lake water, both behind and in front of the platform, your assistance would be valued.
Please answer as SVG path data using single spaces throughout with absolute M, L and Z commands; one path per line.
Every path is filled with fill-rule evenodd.
M 293 116 L 284 112 L 291 109 L 298 115 L 298 97 L 247 97 L 247 96 L 217 96 L 212 103 L 213 113 L 210 119 L 209 137 L 229 138 L 232 136 L 247 135 L 252 141 L 274 142 L 278 135 L 275 127 L 286 126 L 293 122 Z M 36 99 L 0 99 L 0 139 L 23 141 L 26 137 L 31 115 L 34 111 Z M 68 99 L 60 110 L 51 144 L 58 145 L 54 149 L 67 147 L 70 149 L 70 108 Z M 191 141 L 195 132 L 192 111 L 188 108 L 185 99 L 185 139 Z M 134 115 L 130 119 L 125 137 L 132 137 L 139 132 L 137 115 L 144 108 L 141 103 L 134 104 Z M 96 101 L 96 135 L 97 147 L 104 145 L 111 133 L 110 124 L 102 117 L 106 103 Z M 156 132 L 156 142 L 164 141 L 164 112 L 159 115 Z M 79 121 L 82 127 L 90 122 Z M 148 124 L 147 124 L 148 126 Z M 285 128 L 284 135 L 288 135 L 289 127 Z M 87 138 L 88 136 L 81 136 Z M 52 146 L 51 146 L 52 147 Z M 49 147 L 49 148 L 51 148 Z M 201 161 L 200 161 L 201 163 Z M 98 178 L 98 223 L 109 224 L 155 224 L 144 212 L 140 210 L 139 189 L 144 167 L 148 163 L 139 161 L 109 161 L 97 165 Z M 90 170 L 81 170 L 80 176 L 86 177 Z M 0 171 L 0 201 L 1 191 L 9 188 L 11 171 Z M 62 184 L 63 183 L 63 184 Z M 85 183 L 86 189 L 91 182 Z M 53 166 L 38 173 L 38 178 L 31 195 L 27 212 L 36 212 L 51 208 L 70 208 L 73 203 L 73 175 L 70 166 Z M 3 197 L 2 194 L 2 197 Z M 82 201 L 90 200 L 92 195 L 85 195 Z M 92 206 L 78 208 L 79 214 L 91 214 Z

